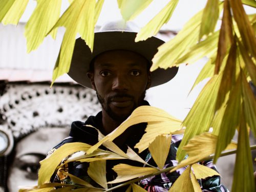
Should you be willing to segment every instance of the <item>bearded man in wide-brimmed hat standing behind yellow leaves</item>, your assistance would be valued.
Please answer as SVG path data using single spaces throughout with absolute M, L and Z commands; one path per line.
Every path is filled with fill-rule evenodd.
M 122 22 L 112 22 L 95 33 L 94 51 L 90 52 L 88 46 L 82 39 L 77 39 L 72 58 L 69 75 L 82 86 L 92 88 L 96 91 L 102 111 L 96 116 L 91 116 L 83 123 L 75 121 L 72 123 L 70 137 L 63 140 L 50 152 L 53 153 L 59 146 L 68 142 L 84 142 L 94 145 L 98 142 L 98 132 L 92 128 L 93 125 L 103 135 L 107 135 L 116 129 L 131 113 L 141 105 L 149 105 L 144 101 L 145 92 L 150 87 L 158 86 L 172 79 L 178 69 L 158 69 L 150 72 L 152 58 L 157 48 L 164 41 L 152 37 L 145 41 L 134 42 L 138 29 L 132 23 L 124 25 Z M 88 78 L 86 78 L 86 74 Z M 139 142 L 144 134 L 146 123 L 131 126 L 123 134 L 114 140 L 121 150 L 126 152 L 127 146 L 134 151 L 135 144 Z M 159 128 L 160 129 L 160 128 Z M 176 150 L 182 136 L 173 137 L 166 166 L 173 166 L 176 162 Z M 137 152 L 137 151 L 136 151 Z M 140 157 L 150 164 L 155 164 L 150 153 L 145 150 Z M 112 170 L 118 163 L 127 163 L 141 166 L 138 162 L 127 160 L 111 160 L 106 162 L 106 177 L 108 181 L 116 178 Z M 211 162 L 203 164 L 213 167 Z M 60 170 L 65 170 L 83 180 L 97 186 L 88 176 L 88 163 L 72 162 L 66 167 L 61 167 L 52 176 L 52 182 L 69 183 L 71 180 L 62 175 Z M 162 174 L 150 179 L 144 179 L 140 185 L 148 191 L 168 191 L 182 170 L 172 174 Z M 203 189 L 209 191 L 227 191 L 220 185 L 219 177 L 208 178 L 200 181 Z M 125 191 L 125 188 L 118 189 Z

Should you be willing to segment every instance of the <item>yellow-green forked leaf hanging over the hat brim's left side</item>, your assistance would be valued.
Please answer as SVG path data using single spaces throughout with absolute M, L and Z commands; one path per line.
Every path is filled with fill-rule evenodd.
M 53 71 L 53 82 L 60 75 L 69 72 L 77 33 L 86 41 L 88 47 L 93 50 L 95 4 L 95 0 L 73 1 L 52 28 L 54 29 L 60 26 L 66 27 L 59 56 Z

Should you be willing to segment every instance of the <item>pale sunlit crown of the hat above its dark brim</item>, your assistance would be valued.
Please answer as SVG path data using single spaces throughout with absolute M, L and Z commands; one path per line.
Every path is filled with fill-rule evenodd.
M 98 32 L 105 31 L 131 31 L 138 33 L 140 28 L 134 22 L 125 22 L 125 20 L 117 20 L 104 24 Z

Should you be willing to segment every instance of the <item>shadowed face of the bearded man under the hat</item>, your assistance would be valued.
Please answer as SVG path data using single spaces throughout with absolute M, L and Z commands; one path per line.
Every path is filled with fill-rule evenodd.
M 94 73 L 88 73 L 102 110 L 123 121 L 141 105 L 150 88 L 147 60 L 125 50 L 107 51 L 95 58 Z

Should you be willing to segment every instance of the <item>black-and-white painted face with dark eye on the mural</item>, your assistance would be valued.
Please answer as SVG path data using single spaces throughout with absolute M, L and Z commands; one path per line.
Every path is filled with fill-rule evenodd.
M 15 157 L 9 170 L 9 191 L 18 191 L 20 186 L 36 185 L 39 161 L 45 159 L 51 147 L 68 134 L 67 128 L 46 127 L 20 140 L 16 145 Z

